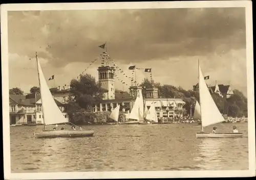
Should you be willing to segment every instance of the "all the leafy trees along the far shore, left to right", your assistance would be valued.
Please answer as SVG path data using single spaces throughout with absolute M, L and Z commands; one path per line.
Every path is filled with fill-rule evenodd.
M 199 99 L 199 92 L 193 90 L 184 90 L 182 87 L 175 87 L 172 85 L 161 85 L 160 83 L 151 82 L 148 79 L 144 79 L 140 84 L 142 87 L 142 93 L 145 97 L 145 89 L 158 88 L 158 96 L 166 98 L 181 98 L 185 101 L 184 109 L 187 114 L 190 114 L 190 108 L 194 111 L 193 106 L 196 100 Z M 31 93 L 39 92 L 38 87 L 32 87 Z M 9 90 L 10 94 L 23 95 L 24 92 L 19 88 L 12 88 Z M 122 93 L 119 98 L 129 95 L 127 92 L 120 91 Z M 229 98 L 220 97 L 218 94 L 212 94 L 217 107 L 220 112 L 232 117 L 247 117 L 247 98 L 239 90 L 233 90 L 233 95 Z M 96 82 L 95 78 L 90 74 L 81 75 L 78 80 L 71 80 L 70 82 L 70 95 L 68 97 L 67 113 L 69 119 L 73 123 L 100 123 L 103 119 L 108 119 L 108 115 L 98 112 L 97 117 L 92 114 L 93 107 L 99 105 L 103 98 L 104 89 L 101 88 L 99 82 Z

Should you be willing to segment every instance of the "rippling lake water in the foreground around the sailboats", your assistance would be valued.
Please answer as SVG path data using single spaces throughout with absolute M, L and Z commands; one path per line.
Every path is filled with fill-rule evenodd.
M 11 172 L 246 170 L 247 123 L 232 125 L 243 138 L 197 139 L 200 125 L 90 125 L 94 137 L 35 139 L 42 126 L 10 127 Z M 212 126 L 205 131 L 211 131 Z

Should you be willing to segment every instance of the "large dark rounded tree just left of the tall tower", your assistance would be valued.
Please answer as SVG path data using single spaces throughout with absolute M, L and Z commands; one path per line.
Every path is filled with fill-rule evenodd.
M 92 112 L 103 98 L 104 89 L 90 74 L 81 75 L 79 80 L 71 80 L 70 96 L 68 98 L 67 113 L 70 122 L 81 121 L 82 112 Z

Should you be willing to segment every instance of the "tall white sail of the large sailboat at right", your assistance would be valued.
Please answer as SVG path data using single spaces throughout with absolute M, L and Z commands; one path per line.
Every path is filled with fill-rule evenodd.
M 199 95 L 200 95 L 200 107 L 201 107 L 201 121 L 202 126 L 208 126 L 211 124 L 217 124 L 225 121 L 218 107 L 216 106 L 214 99 L 212 99 L 209 89 L 204 81 L 204 76 L 199 65 Z

